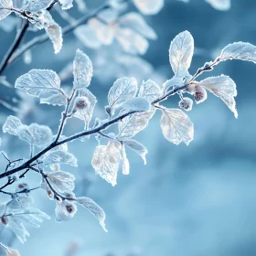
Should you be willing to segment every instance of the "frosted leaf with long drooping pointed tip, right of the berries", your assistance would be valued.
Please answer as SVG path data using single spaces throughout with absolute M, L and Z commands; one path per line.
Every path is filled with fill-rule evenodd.
M 219 97 L 226 103 L 229 110 L 234 113 L 235 118 L 238 118 L 236 110 L 236 101 L 234 97 L 237 96 L 236 84 L 228 76 L 211 77 L 206 80 L 201 80 L 199 86 L 205 87 L 215 96 Z

